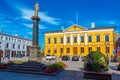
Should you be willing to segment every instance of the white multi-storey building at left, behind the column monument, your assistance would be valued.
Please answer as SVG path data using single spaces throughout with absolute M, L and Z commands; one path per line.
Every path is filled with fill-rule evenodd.
M 29 56 L 29 47 L 32 41 L 0 32 L 0 57 L 1 59 L 22 59 Z

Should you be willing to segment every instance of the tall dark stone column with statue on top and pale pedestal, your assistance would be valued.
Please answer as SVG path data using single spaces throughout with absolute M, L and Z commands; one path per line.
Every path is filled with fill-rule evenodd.
M 39 46 L 39 21 L 40 17 L 38 16 L 39 4 L 35 3 L 34 6 L 34 16 L 33 20 L 33 37 L 32 37 L 32 46 L 30 47 L 30 55 L 28 61 L 40 62 L 40 46 Z

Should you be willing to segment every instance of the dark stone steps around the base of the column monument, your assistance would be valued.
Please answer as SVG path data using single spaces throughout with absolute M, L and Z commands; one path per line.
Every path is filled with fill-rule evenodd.
M 23 64 L 13 64 L 7 67 L 7 71 L 34 73 L 42 72 L 47 66 L 37 62 L 25 62 Z

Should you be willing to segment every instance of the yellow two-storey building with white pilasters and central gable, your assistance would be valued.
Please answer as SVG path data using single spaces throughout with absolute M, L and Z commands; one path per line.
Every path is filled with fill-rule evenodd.
M 114 28 L 83 28 L 72 25 L 64 30 L 45 32 L 44 53 L 85 56 L 90 51 L 99 50 L 111 56 L 114 49 Z

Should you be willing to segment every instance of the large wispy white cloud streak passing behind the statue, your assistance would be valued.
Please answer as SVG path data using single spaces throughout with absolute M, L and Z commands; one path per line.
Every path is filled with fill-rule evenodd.
M 12 5 L 11 2 L 14 4 Z M 12 6 L 13 9 L 15 9 L 16 11 L 20 11 L 21 14 L 22 14 L 22 18 L 23 19 L 27 19 L 27 20 L 30 20 L 31 17 L 34 15 L 34 8 L 31 9 L 29 8 L 29 6 L 21 3 L 21 2 L 17 2 L 17 1 L 14 1 L 14 0 L 10 0 L 10 1 L 6 1 L 10 6 Z M 47 22 L 49 24 L 52 24 L 52 25 L 59 25 L 60 23 L 60 20 L 59 18 L 54 18 L 54 17 L 51 17 L 48 15 L 48 12 L 39 12 L 39 16 L 41 18 L 41 21 L 44 21 L 44 22 Z

